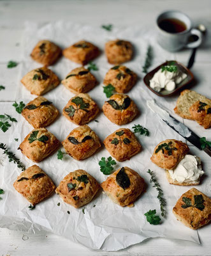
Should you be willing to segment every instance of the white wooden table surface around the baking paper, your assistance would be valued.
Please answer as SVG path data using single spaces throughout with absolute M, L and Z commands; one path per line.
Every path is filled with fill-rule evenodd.
M 6 90 L 0 92 L 1 113 L 12 111 L 19 67 L 8 69 L 9 60 L 20 61 L 24 21 L 49 22 L 71 20 L 88 24 L 140 24 L 154 26 L 160 12 L 168 9 L 187 13 L 194 24 L 203 23 L 208 28 L 207 43 L 197 52 L 193 68 L 196 79 L 211 86 L 211 1 L 210 0 L 149 0 L 149 1 L 0 1 L 0 84 Z M 78 14 L 79 13 L 79 14 Z M 190 50 L 177 53 L 177 60 L 187 63 Z M 0 131 L 0 141 L 8 143 L 9 132 Z M 147 239 L 120 252 L 101 252 L 85 248 L 68 239 L 47 232 L 24 234 L 0 228 L 0 255 L 211 255 L 210 236 L 201 244 L 169 239 Z

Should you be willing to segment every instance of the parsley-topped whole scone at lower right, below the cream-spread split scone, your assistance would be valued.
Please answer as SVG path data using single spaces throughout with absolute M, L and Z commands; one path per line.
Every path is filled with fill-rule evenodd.
M 178 199 L 173 214 L 187 227 L 198 229 L 211 220 L 211 199 L 191 188 Z

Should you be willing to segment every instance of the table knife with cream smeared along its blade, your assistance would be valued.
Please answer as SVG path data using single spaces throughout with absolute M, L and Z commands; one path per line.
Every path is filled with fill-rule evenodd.
M 182 124 L 163 108 L 159 107 L 155 100 L 147 100 L 147 106 L 174 131 L 201 150 L 200 137 L 191 131 L 186 125 Z M 208 146 L 204 149 L 204 151 L 211 157 L 211 150 L 208 148 Z

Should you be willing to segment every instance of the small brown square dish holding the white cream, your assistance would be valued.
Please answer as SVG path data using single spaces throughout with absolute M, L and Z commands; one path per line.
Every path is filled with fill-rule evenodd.
M 152 79 L 154 74 L 161 68 L 161 66 L 169 65 L 169 63 L 172 62 L 172 61 L 175 63 L 175 65 L 182 72 L 187 74 L 186 79 L 184 79 L 180 84 L 177 84 L 175 90 L 173 90 L 173 91 L 167 91 L 167 90 L 163 89 L 163 90 L 161 90 L 161 92 L 156 92 L 155 90 L 153 90 L 150 87 L 150 80 Z M 158 67 L 154 68 L 154 70 L 152 70 L 149 73 L 147 73 L 147 75 L 143 78 L 143 81 L 146 84 L 146 86 L 149 88 L 149 90 L 151 90 L 152 92 L 156 93 L 157 96 L 168 97 L 168 96 L 171 96 L 174 93 L 178 92 L 178 90 L 181 90 L 182 88 L 184 88 L 187 84 L 191 83 L 193 81 L 193 74 L 192 74 L 192 72 L 188 68 L 186 68 L 184 65 L 182 65 L 182 63 L 179 63 L 177 61 L 171 60 L 171 61 L 164 62 L 163 64 L 161 64 Z

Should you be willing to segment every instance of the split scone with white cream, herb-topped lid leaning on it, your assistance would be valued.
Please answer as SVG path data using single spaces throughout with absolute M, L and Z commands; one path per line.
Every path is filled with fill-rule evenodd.
M 163 168 L 170 184 L 190 186 L 200 184 L 201 159 L 187 154 L 189 147 L 178 140 L 161 141 L 150 158 L 154 164 Z

